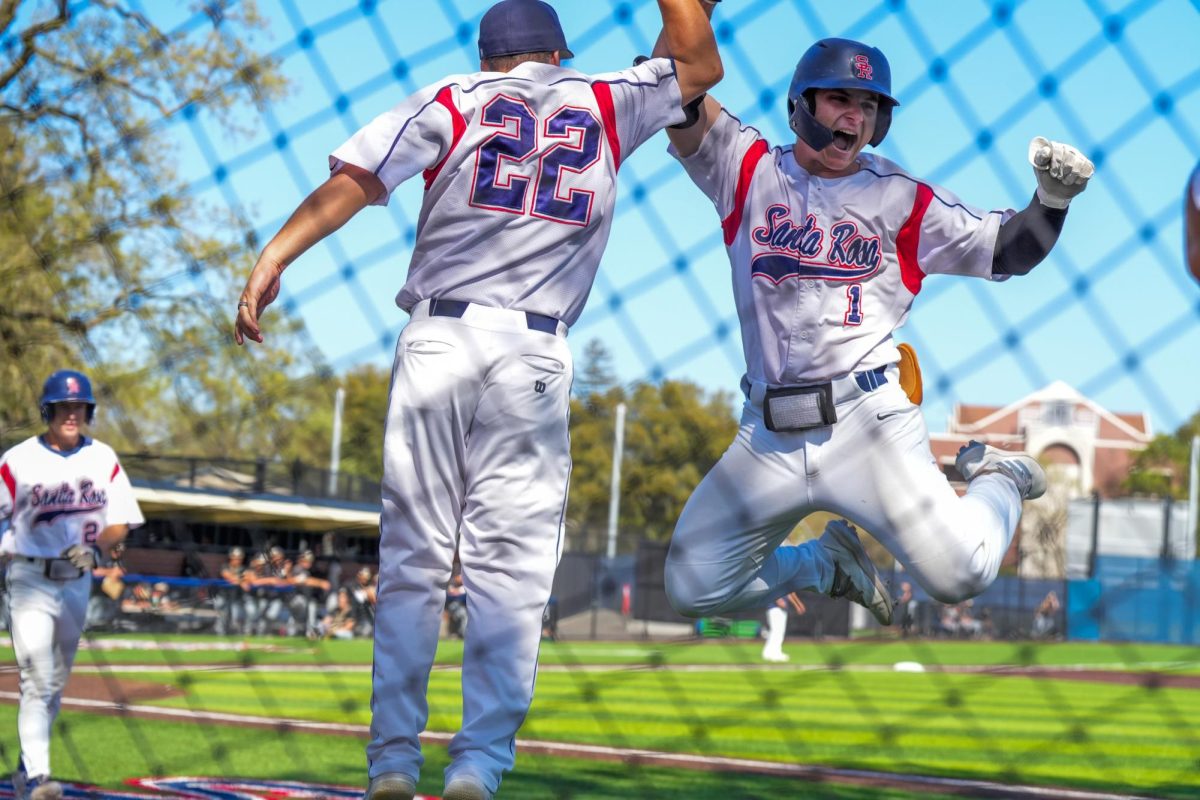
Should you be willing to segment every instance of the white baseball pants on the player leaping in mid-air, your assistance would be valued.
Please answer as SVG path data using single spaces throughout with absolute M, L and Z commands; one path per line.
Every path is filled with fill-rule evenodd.
M 872 534 L 935 600 L 954 603 L 996 578 L 1021 515 L 1009 479 L 980 475 L 958 497 L 929 449 L 920 410 L 888 383 L 838 404 L 838 422 L 774 433 L 748 402 L 737 438 L 692 493 L 667 554 L 682 614 L 763 608 L 790 591 L 826 594 L 833 564 L 816 541 L 780 547 L 814 511 Z

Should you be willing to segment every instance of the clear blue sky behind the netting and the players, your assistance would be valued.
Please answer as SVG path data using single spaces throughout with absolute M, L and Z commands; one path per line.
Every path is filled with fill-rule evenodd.
M 233 206 L 263 241 L 326 176 L 326 156 L 376 114 L 445 74 L 478 68 L 476 0 L 263 0 L 263 46 L 292 82 L 230 139 L 200 114 L 169 130 L 204 201 Z M 172 28 L 186 8 L 146 2 Z M 652 0 L 558 0 L 571 66 L 620 68 L 648 52 Z M 714 91 L 773 143 L 790 140 L 785 94 L 822 36 L 881 48 L 902 106 L 880 152 L 985 209 L 1022 207 L 1033 136 L 1098 162 L 1060 243 L 1003 284 L 925 282 L 899 338 L 925 367 L 925 415 L 1010 403 L 1064 380 L 1115 411 L 1171 431 L 1200 408 L 1200 288 L 1182 251 L 1182 196 L 1200 158 L 1200 0 L 1100 2 L 727 0 L 715 14 L 726 78 Z M 733 390 L 742 350 L 728 263 L 708 201 L 652 139 L 622 169 L 600 277 L 571 331 L 612 350 L 624 380 L 662 377 Z M 284 301 L 337 369 L 389 365 L 406 315 L 419 181 L 367 209 L 284 277 Z M 248 273 L 251 265 L 246 265 Z M 233 306 L 230 297 L 230 307 Z

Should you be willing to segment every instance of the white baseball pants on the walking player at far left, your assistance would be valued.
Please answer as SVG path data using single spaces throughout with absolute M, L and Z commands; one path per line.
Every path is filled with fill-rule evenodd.
M 88 614 L 91 576 L 46 577 L 44 561 L 16 557 L 8 565 L 12 646 L 20 670 L 17 736 L 30 776 L 50 774 L 50 727 L 59 715 Z

